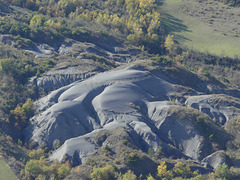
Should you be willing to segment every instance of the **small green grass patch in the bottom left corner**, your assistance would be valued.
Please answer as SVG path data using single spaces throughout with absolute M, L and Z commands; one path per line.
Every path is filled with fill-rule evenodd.
M 9 166 L 1 158 L 0 158 L 0 179 L 17 180 L 17 177 L 14 175 Z

